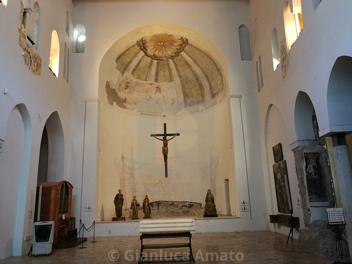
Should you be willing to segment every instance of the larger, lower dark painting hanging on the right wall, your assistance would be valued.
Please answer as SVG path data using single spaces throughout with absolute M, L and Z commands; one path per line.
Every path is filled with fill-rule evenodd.
M 288 190 L 286 189 L 285 177 L 284 177 L 284 175 L 288 175 L 286 161 L 277 162 L 274 165 L 272 165 L 272 168 L 274 171 L 277 209 L 279 213 L 289 214 L 290 207 L 289 207 L 289 200 L 287 195 L 290 195 L 290 190 L 289 190 L 290 188 L 288 188 Z M 287 186 L 289 187 L 288 183 L 287 183 Z

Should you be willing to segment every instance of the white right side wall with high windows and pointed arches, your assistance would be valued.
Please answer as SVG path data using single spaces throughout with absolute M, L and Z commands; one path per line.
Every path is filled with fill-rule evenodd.
M 298 182 L 295 179 L 296 175 L 293 169 L 295 167 L 294 157 L 287 145 L 297 140 L 294 122 L 297 94 L 300 90 L 308 94 L 315 108 L 320 136 L 327 134 L 330 131 L 327 112 L 329 75 L 335 60 L 339 56 L 352 55 L 348 44 L 351 43 L 352 36 L 351 34 L 346 34 L 352 26 L 352 22 L 349 19 L 349 10 L 352 8 L 352 2 L 347 0 L 322 1 L 315 12 L 313 11 L 312 2 L 312 0 L 301 0 L 304 29 L 288 51 L 290 67 L 284 79 L 282 78 L 281 64 L 275 71 L 273 70 L 270 38 L 274 27 L 277 30 L 278 44 L 285 38 L 283 19 L 285 0 L 251 0 L 249 5 L 252 71 L 255 73 L 255 62 L 258 61 L 259 56 L 262 58 L 263 68 L 264 87 L 257 94 L 257 111 L 269 213 L 275 213 L 277 207 L 275 205 L 275 189 L 271 182 L 271 179 L 273 180 L 272 162 L 270 162 L 272 145 L 268 143 L 268 148 L 266 149 L 266 133 L 268 133 L 268 141 L 270 138 L 275 137 L 287 138 L 287 143 L 283 147 L 286 149 L 284 150 L 286 153 L 284 158 L 287 160 L 289 170 L 291 195 L 292 197 L 298 196 L 298 193 L 293 195 Z M 253 26 L 255 18 L 257 18 L 258 39 L 254 44 Z M 282 129 L 277 129 L 270 133 L 266 131 L 270 105 L 275 105 L 275 112 L 280 113 L 285 132 Z M 270 120 L 271 114 L 270 112 Z M 283 124 L 281 124 L 281 127 L 283 127 Z M 297 209 L 295 209 L 294 205 L 294 212 L 295 210 Z M 297 216 L 302 218 L 299 210 L 297 214 Z M 302 228 L 302 219 L 300 219 L 300 222 Z M 279 232 L 288 233 L 288 230 Z

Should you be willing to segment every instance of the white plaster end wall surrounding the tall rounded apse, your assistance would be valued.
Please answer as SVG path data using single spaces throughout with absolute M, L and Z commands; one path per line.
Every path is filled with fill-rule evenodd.
M 257 196 L 257 200 L 253 203 L 255 221 L 250 221 L 250 216 L 246 213 L 240 216 L 246 216 L 246 230 L 263 230 L 268 228 L 267 210 L 265 206 L 265 190 L 263 188 L 262 167 L 260 165 L 260 154 L 258 153 L 258 124 L 257 113 L 255 107 L 255 93 L 253 74 L 251 72 L 251 62 L 241 62 L 240 49 L 238 39 L 238 27 L 241 24 L 249 24 L 247 1 L 209 1 L 209 2 L 99 2 L 98 1 L 77 1 L 75 2 L 75 21 L 74 25 L 83 24 L 86 28 L 86 43 L 83 54 L 73 54 L 73 78 L 72 78 L 72 105 L 71 105 L 71 149 L 70 149 L 70 166 L 69 181 L 74 184 L 74 201 L 76 217 L 80 214 L 81 200 L 81 175 L 82 175 L 82 147 L 83 147 L 83 124 L 84 124 L 84 100 L 96 100 L 98 95 L 98 78 L 99 65 L 101 59 L 109 47 L 125 33 L 142 25 L 164 22 L 173 23 L 181 26 L 189 27 L 199 32 L 201 35 L 213 42 L 224 55 L 228 67 L 228 80 L 230 86 L 230 94 L 243 95 L 243 115 L 244 126 L 246 130 L 248 167 L 250 173 L 250 185 L 253 186 L 253 194 Z M 157 10 L 157 11 L 156 11 Z M 236 14 L 236 15 L 234 15 Z M 221 19 L 220 19 L 221 18 Z M 226 104 L 225 104 L 226 105 Z M 228 109 L 228 107 L 225 107 Z M 225 109 L 224 108 L 224 109 Z M 220 112 L 219 112 L 220 113 Z M 228 115 L 228 110 L 223 113 Z M 87 118 L 98 119 L 98 113 Z M 233 124 L 238 127 L 239 124 Z M 95 125 L 86 126 L 87 130 L 93 130 Z M 228 128 L 227 128 L 228 129 Z M 149 132 L 148 132 L 149 133 Z M 237 137 L 237 132 L 235 133 Z M 91 137 L 85 137 L 86 142 L 97 146 L 98 133 L 91 134 Z M 153 143 L 156 145 L 156 143 Z M 229 151 L 225 151 L 224 155 L 230 155 Z M 125 150 L 126 157 L 130 157 L 131 150 Z M 127 155 L 128 152 L 128 155 Z M 152 151 L 154 153 L 155 151 Z M 84 160 L 89 155 L 96 156 L 96 153 L 84 152 Z M 153 154 L 156 155 L 156 154 Z M 221 157 L 220 157 L 221 158 Z M 94 159 L 92 159 L 94 160 Z M 99 162 L 99 161 L 98 161 Z M 95 194 L 97 201 L 97 178 L 96 163 L 84 163 L 84 180 L 88 178 L 96 182 L 95 186 L 84 187 L 84 194 Z M 224 166 L 232 167 L 231 162 Z M 244 163 L 238 163 L 239 167 L 245 166 Z M 163 166 L 162 166 L 163 169 Z M 231 170 L 231 169 L 230 169 Z M 242 170 L 244 171 L 244 169 Z M 235 174 L 233 174 L 235 176 Z M 237 182 L 230 184 L 230 188 L 234 189 L 235 197 L 231 197 L 235 203 L 235 208 L 231 208 L 233 214 L 239 214 L 240 199 L 247 199 L 246 176 L 236 175 L 240 178 L 240 184 Z M 231 175 L 221 175 L 216 180 L 218 186 L 223 189 L 224 179 L 231 178 Z M 89 180 L 90 181 L 90 180 Z M 216 184 L 215 184 L 216 185 Z M 246 187 L 244 194 L 239 196 L 236 188 L 241 190 Z M 118 186 L 114 187 L 114 195 L 118 190 Z M 216 187 L 218 188 L 218 187 Z M 102 190 L 103 191 L 103 190 Z M 112 190 L 111 190 L 112 191 Z M 230 190 L 231 191 L 231 190 Z M 221 196 L 220 196 L 221 197 Z M 216 199 L 216 198 L 215 198 Z M 84 199 L 83 199 L 84 200 Z M 113 200 L 113 196 L 112 196 Z M 219 201 L 216 200 L 216 201 Z M 127 200 L 127 205 L 129 201 Z M 219 203 L 219 202 L 218 202 Z M 84 204 L 86 204 L 84 202 Z M 101 204 L 95 204 L 96 207 Z M 83 215 L 83 214 L 82 214 Z M 98 216 L 98 212 L 95 212 Z M 87 217 L 82 219 L 84 222 L 93 222 L 94 215 L 87 213 Z M 254 218 L 253 218 L 254 219 Z

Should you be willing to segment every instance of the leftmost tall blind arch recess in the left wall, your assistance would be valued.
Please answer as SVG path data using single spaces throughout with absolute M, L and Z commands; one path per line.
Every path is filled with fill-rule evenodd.
M 0 258 L 22 253 L 31 139 L 29 113 L 24 104 L 18 104 L 9 115 L 4 151 L 0 154 L 0 207 L 3 212 L 0 232 L 5 245 L 0 249 Z

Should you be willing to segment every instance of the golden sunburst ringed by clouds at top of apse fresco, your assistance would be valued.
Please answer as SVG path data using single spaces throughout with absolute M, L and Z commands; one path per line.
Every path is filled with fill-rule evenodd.
M 177 57 L 188 45 L 188 39 L 168 33 L 157 33 L 139 39 L 137 45 L 147 57 L 165 61 Z

